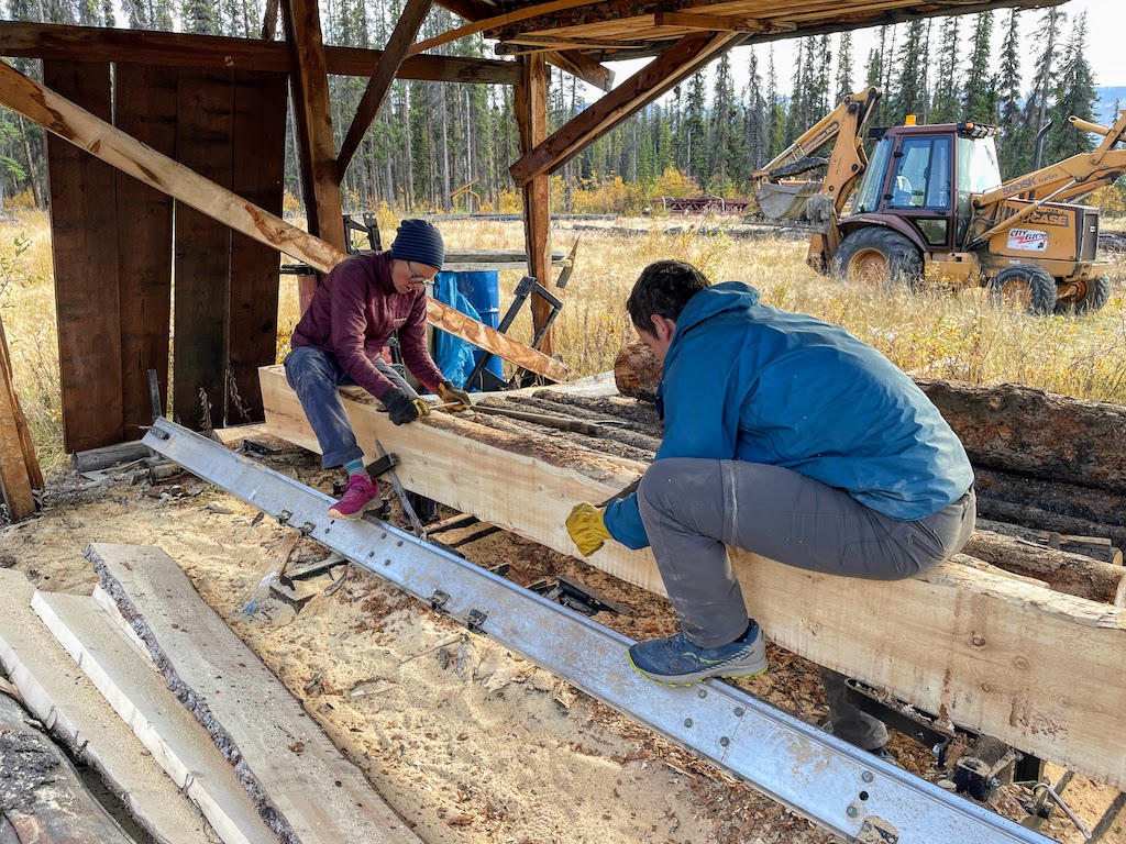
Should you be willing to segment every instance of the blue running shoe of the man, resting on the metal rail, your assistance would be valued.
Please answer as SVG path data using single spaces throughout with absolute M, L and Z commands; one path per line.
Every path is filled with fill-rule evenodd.
M 655 683 L 690 685 L 708 677 L 753 677 L 767 670 L 766 637 L 751 621 L 740 638 L 717 648 L 692 645 L 683 634 L 629 648 L 634 671 Z

